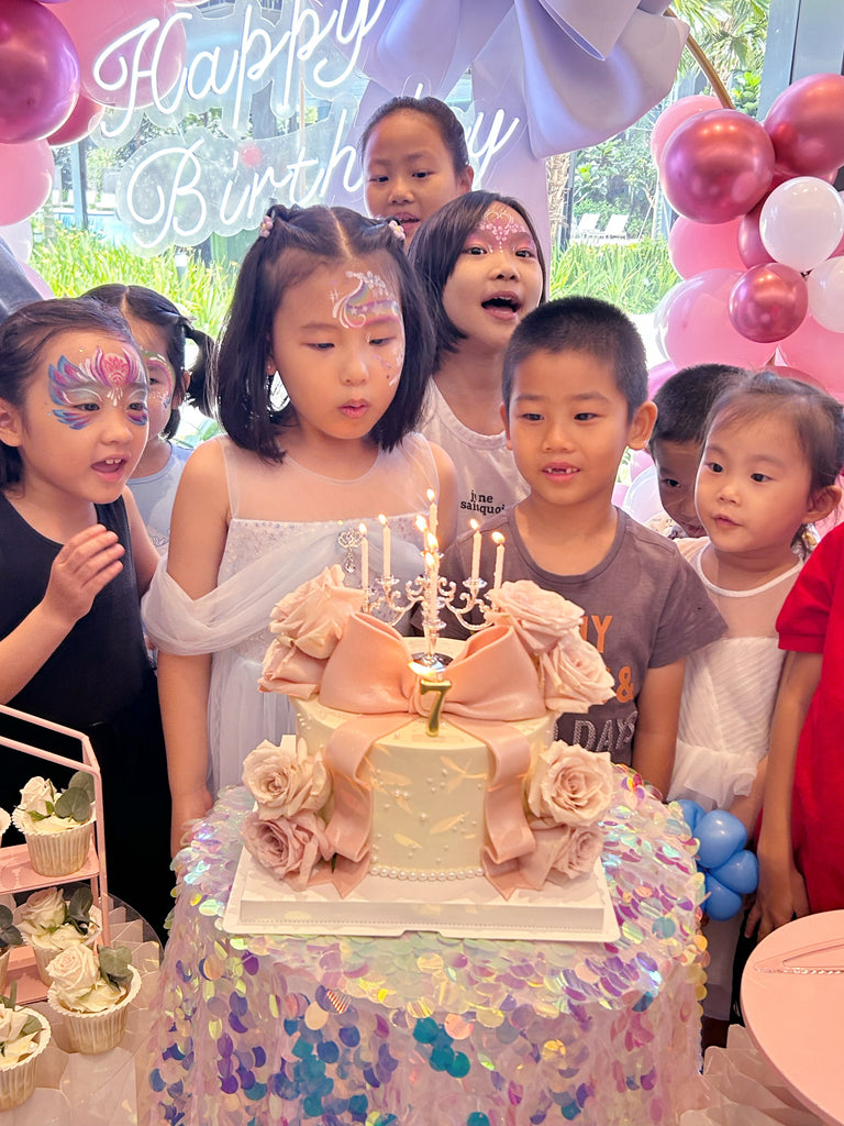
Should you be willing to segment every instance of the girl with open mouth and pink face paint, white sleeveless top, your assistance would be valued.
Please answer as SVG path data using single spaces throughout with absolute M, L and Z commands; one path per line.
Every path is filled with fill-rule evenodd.
M 422 432 L 455 463 L 461 515 L 495 516 L 527 494 L 506 447 L 501 377 L 513 330 L 545 300 L 539 240 L 515 199 L 470 191 L 422 225 L 411 261 L 437 337 Z

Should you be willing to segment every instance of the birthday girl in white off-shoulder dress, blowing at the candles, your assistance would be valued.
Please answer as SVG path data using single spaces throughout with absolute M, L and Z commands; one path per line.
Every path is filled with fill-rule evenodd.
M 361 534 L 380 570 L 419 574 L 427 491 L 454 531 L 454 471 L 411 432 L 431 363 L 424 301 L 395 225 L 345 208 L 273 206 L 246 254 L 221 350 L 227 437 L 191 455 L 167 562 L 145 601 L 173 797 L 173 844 L 244 757 L 293 730 L 259 694 L 273 605 L 338 563 L 360 586 Z

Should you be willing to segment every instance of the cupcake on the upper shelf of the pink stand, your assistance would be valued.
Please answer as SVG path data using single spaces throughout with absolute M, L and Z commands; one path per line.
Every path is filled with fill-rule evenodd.
M 42 876 L 70 876 L 88 857 L 93 828 L 93 778 L 83 770 L 59 792 L 48 778 L 30 778 L 12 821 L 26 837 L 29 863 Z

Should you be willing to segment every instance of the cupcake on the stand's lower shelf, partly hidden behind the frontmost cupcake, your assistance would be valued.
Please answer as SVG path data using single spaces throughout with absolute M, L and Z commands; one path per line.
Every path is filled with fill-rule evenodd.
M 45 985 L 52 977 L 47 966 L 71 946 L 92 947 L 102 930 L 99 908 L 92 906 L 91 888 L 78 887 L 65 901 L 60 887 L 33 892 L 18 912 L 18 929 L 35 955 L 38 976 Z

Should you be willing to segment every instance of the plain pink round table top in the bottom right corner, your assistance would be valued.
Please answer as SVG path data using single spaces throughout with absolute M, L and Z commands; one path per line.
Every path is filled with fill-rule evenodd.
M 844 911 L 794 919 L 760 942 L 742 976 L 742 1012 L 787 1087 L 844 1126 Z

